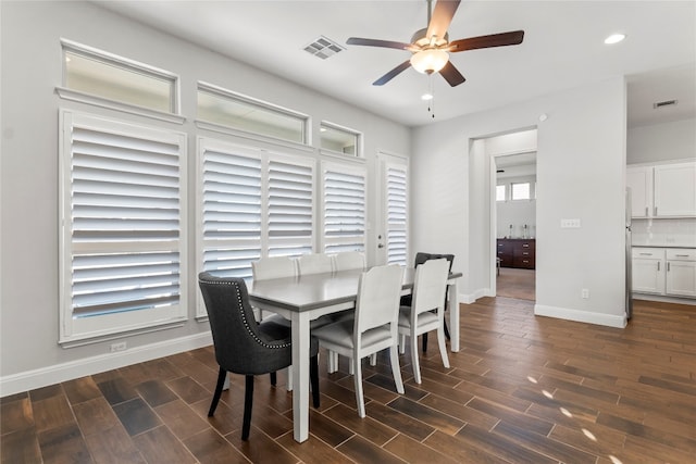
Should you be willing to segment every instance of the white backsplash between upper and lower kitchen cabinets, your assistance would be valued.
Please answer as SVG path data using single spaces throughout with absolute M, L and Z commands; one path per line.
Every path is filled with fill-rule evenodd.
M 631 230 L 634 246 L 696 247 L 696 218 L 634 218 Z

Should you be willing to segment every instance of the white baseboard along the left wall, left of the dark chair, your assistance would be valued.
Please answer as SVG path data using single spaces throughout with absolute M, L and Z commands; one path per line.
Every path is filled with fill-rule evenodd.
M 100 354 L 50 367 L 12 374 L 0 378 L 0 397 L 208 347 L 212 342 L 212 336 L 210 331 L 207 331 L 174 340 L 135 347 L 117 353 Z

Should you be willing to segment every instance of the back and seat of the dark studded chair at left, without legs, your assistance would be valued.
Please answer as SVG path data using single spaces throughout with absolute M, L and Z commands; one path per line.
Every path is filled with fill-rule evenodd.
M 217 364 L 225 371 L 244 375 L 274 371 L 268 365 L 271 362 L 269 352 L 277 353 L 281 351 L 278 349 L 289 347 L 290 342 L 269 341 L 259 333 L 244 279 L 200 273 L 198 285 L 206 302 Z M 291 351 L 286 351 L 285 365 L 290 365 Z

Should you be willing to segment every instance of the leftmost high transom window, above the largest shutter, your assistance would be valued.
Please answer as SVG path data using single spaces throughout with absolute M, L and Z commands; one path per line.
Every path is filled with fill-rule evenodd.
M 63 86 L 110 101 L 178 113 L 178 78 L 166 71 L 62 40 Z

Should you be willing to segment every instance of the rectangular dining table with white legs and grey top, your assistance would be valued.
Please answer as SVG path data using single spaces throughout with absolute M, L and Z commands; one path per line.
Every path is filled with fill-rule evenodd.
M 326 314 L 356 308 L 358 283 L 362 269 L 339 271 L 251 281 L 249 300 L 261 311 L 288 318 L 293 331 L 293 425 L 294 437 L 302 442 L 309 437 L 309 350 L 310 322 Z M 457 280 L 460 272 L 448 278 L 450 350 L 459 351 L 459 300 Z M 402 294 L 413 288 L 415 269 L 406 267 Z

